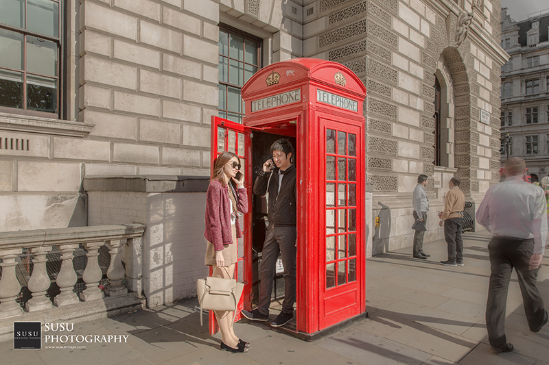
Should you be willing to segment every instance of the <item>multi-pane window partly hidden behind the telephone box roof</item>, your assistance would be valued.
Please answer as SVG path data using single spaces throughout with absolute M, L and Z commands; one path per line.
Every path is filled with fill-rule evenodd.
M 261 40 L 220 25 L 219 116 L 242 123 L 244 101 L 240 90 L 261 67 Z

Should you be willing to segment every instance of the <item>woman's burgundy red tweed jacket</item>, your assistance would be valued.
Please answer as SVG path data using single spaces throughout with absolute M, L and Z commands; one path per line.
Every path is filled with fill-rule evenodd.
M 248 212 L 248 192 L 237 189 L 237 208 L 241 213 Z M 233 243 L 231 235 L 231 201 L 229 186 L 222 186 L 219 180 L 212 180 L 206 193 L 206 230 L 204 236 L 213 243 L 215 251 L 221 251 L 224 244 Z M 236 220 L 236 236 L 242 237 L 239 220 Z

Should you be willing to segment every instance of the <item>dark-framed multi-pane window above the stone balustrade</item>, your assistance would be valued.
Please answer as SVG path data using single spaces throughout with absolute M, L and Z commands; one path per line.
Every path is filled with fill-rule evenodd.
M 4 1 L 0 12 L 0 111 L 59 114 L 59 0 Z

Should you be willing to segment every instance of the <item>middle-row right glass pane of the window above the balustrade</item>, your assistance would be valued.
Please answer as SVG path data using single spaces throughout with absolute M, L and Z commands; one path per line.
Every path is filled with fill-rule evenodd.
M 27 71 L 57 76 L 56 43 L 27 36 Z

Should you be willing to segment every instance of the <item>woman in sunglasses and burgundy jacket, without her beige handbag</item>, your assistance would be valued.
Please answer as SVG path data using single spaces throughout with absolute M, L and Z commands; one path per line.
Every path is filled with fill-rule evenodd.
M 237 257 L 237 238 L 242 237 L 238 216 L 248 212 L 248 193 L 240 158 L 224 152 L 213 162 L 213 176 L 206 194 L 206 231 L 208 240 L 205 264 L 212 266 L 213 277 L 232 279 Z M 237 174 L 238 179 L 237 179 Z M 233 331 L 233 313 L 215 311 L 221 331 L 221 349 L 244 353 L 249 343 L 237 338 Z

